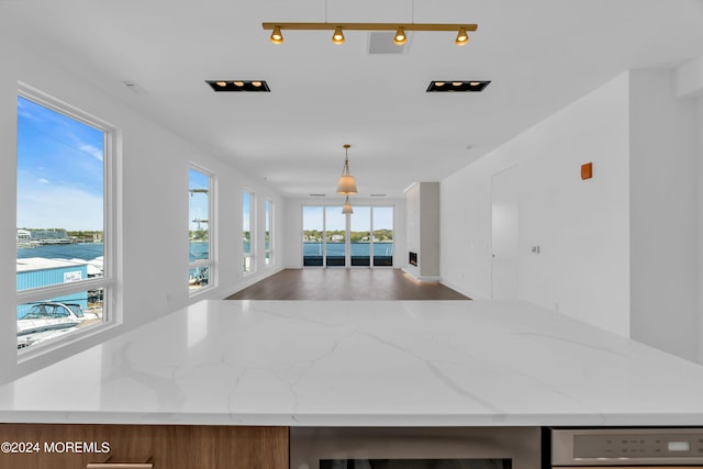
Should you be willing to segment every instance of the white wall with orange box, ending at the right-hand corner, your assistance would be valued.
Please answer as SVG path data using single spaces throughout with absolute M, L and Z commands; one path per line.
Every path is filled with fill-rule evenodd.
M 625 74 L 442 181 L 447 286 L 490 298 L 491 176 L 516 166 L 520 299 L 629 333 L 627 88 Z

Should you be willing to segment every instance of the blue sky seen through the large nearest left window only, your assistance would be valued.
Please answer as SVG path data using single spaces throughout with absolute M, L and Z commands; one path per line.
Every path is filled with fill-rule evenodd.
M 103 230 L 104 132 L 18 97 L 18 227 Z

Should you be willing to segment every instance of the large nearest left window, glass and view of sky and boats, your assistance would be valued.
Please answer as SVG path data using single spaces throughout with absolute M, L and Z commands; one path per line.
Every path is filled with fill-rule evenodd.
M 116 130 L 18 96 L 16 325 L 22 354 L 113 317 Z

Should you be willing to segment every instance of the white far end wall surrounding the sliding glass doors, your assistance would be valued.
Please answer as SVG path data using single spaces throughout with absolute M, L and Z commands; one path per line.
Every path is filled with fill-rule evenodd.
M 349 198 L 352 205 L 358 206 L 393 206 L 393 267 L 399 268 L 408 264 L 408 246 L 405 242 L 405 201 L 394 198 Z M 303 266 L 302 233 L 303 205 L 339 205 L 341 198 L 289 198 L 286 199 L 286 214 L 283 219 L 284 232 L 281 233 L 283 267 L 300 269 Z M 354 216 L 354 215 L 352 215 Z

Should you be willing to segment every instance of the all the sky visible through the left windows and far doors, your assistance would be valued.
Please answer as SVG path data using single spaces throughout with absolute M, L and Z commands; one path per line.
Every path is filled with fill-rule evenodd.
M 103 228 L 104 132 L 18 97 L 18 227 Z M 209 177 L 194 169 L 189 189 L 208 189 Z M 209 194 L 190 197 L 193 220 L 208 220 Z M 354 200 L 352 200 L 354 204 Z M 327 208 L 327 228 L 344 230 L 339 206 Z M 365 219 L 365 220 L 362 220 Z M 392 209 L 373 211 L 375 227 L 392 228 Z M 305 227 L 322 228 L 322 208 L 304 209 Z M 368 230 L 368 210 L 357 208 L 352 228 Z M 201 222 L 201 227 L 208 225 Z M 244 193 L 244 231 L 249 230 L 248 193 Z

